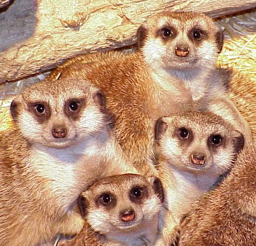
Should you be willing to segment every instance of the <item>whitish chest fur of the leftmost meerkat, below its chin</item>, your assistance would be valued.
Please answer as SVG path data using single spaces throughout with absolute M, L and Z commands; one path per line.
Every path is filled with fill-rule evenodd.
M 70 204 L 84 186 L 101 177 L 98 143 L 83 142 L 65 149 L 35 146 L 30 163 L 38 176 L 47 180 L 46 189 L 59 197 L 61 204 Z

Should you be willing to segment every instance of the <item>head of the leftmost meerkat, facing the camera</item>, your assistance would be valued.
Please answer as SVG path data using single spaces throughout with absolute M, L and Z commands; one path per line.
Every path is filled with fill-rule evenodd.
M 66 148 L 99 131 L 108 122 L 104 95 L 80 79 L 43 81 L 26 88 L 10 110 L 30 143 Z

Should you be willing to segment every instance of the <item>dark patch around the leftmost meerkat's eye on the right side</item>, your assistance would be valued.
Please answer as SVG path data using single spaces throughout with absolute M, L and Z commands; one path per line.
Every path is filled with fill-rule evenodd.
M 85 98 L 70 98 L 65 102 L 64 111 L 67 117 L 77 120 L 86 106 Z

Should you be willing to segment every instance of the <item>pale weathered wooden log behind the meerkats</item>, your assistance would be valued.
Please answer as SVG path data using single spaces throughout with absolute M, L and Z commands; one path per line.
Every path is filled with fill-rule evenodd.
M 0 83 L 77 54 L 134 44 L 137 28 L 164 10 L 218 17 L 253 7 L 256 0 L 15 0 L 0 13 Z

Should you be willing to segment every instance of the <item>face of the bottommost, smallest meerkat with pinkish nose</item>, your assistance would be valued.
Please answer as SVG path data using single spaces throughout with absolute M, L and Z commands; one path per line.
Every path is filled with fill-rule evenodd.
M 150 227 L 163 201 L 162 184 L 156 177 L 124 174 L 103 178 L 83 192 L 82 216 L 102 234 L 116 234 Z

